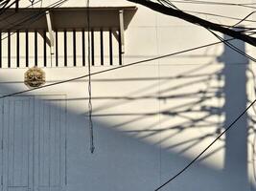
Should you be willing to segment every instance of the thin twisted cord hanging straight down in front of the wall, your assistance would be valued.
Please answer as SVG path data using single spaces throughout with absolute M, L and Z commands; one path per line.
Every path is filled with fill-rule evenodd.
M 89 128 L 90 128 L 90 151 L 94 152 L 94 138 L 93 138 L 93 122 L 92 122 L 92 102 L 91 102 L 91 58 L 90 58 L 90 0 L 87 0 L 87 31 L 88 31 L 88 113 L 89 113 Z

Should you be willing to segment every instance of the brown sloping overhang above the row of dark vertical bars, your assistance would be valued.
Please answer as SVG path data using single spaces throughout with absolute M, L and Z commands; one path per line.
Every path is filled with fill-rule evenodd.
M 48 31 L 46 12 L 49 11 L 54 31 L 87 31 L 87 8 L 20 8 L 5 11 L 0 15 L 0 30 L 6 31 Z M 128 29 L 136 7 L 93 7 L 89 8 L 90 29 L 94 31 L 120 30 L 120 12 L 123 12 L 123 28 Z

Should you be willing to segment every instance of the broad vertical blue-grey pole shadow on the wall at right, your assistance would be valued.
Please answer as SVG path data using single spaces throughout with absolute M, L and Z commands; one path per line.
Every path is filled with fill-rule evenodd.
M 228 39 L 229 36 L 224 36 Z M 236 40 L 232 45 L 245 53 L 244 42 Z M 234 53 L 229 47 L 225 46 L 224 53 L 220 60 L 224 63 L 221 72 L 224 78 L 224 127 L 227 127 L 234 118 L 238 117 L 246 109 L 247 91 L 246 72 L 248 69 L 248 59 L 239 53 Z M 247 137 L 248 137 L 248 116 L 244 114 L 225 135 L 225 154 L 224 154 L 224 175 L 230 177 L 232 183 L 227 183 L 227 190 L 245 190 L 248 185 L 248 159 L 247 159 Z M 254 161 L 252 161 L 254 162 Z M 249 190 L 249 187 L 246 188 Z

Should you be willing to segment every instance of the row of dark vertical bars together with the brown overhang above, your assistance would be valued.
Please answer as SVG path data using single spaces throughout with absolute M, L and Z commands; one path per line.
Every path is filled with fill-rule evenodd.
M 86 8 L 5 11 L 0 15 L 0 68 L 84 67 L 89 60 L 92 66 L 122 65 L 122 27 L 128 28 L 135 11 L 134 7 L 92 8 L 89 27 Z M 54 49 L 46 12 L 51 15 Z

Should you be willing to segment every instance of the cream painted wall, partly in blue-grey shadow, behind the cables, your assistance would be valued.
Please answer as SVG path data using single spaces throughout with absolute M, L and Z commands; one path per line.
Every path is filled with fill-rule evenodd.
M 53 2 L 44 0 L 43 6 Z M 63 6 L 84 7 L 85 3 L 81 0 L 69 0 Z M 134 5 L 123 0 L 91 1 L 93 7 Z M 190 3 L 175 5 L 184 11 L 229 16 L 220 18 L 195 13 L 223 25 L 234 25 L 238 22 L 236 18 L 244 18 L 253 11 L 252 8 L 237 6 Z M 139 5 L 135 6 L 138 11 L 125 32 L 124 65 L 219 41 L 201 27 Z M 249 18 L 253 20 L 254 16 Z M 241 25 L 254 27 L 253 22 L 244 22 Z M 224 39 L 229 38 L 220 35 Z M 255 48 L 242 41 L 234 40 L 232 44 L 245 53 L 255 55 Z M 92 73 L 116 67 L 96 65 L 92 67 Z M 2 69 L 1 95 L 28 90 L 23 83 L 26 70 Z M 45 68 L 44 71 L 47 84 L 88 74 L 87 67 Z M 30 137 L 35 148 L 24 143 L 29 148 L 29 157 L 26 158 L 29 164 L 24 167 L 28 169 L 28 183 L 24 183 L 26 188 L 11 188 L 12 181 L 23 182 L 14 175 L 24 169 L 15 165 L 25 164 L 23 158 L 21 161 L 14 158 L 13 162 L 9 160 L 13 153 L 20 152 L 20 147 L 12 150 L 16 148 L 12 138 L 20 137 L 6 132 L 10 124 L 4 123 L 1 127 L 2 138 L 6 140 L 6 150 L 3 149 L 1 153 L 4 156 L 1 159 L 4 177 L 2 188 L 13 191 L 28 188 L 67 191 L 154 190 L 197 157 L 255 98 L 254 71 L 252 61 L 220 43 L 92 75 L 92 118 L 96 147 L 93 155 L 89 152 L 87 78 L 22 94 L 18 97 L 33 97 L 30 111 L 35 114 L 27 112 L 31 117 L 22 115 L 19 119 L 25 118 L 28 123 L 33 121 L 31 128 L 35 128 Z M 12 98 L 6 97 L 1 103 L 2 121 L 9 121 L 5 119 L 7 113 L 11 116 L 12 113 L 15 114 L 12 111 Z M 44 107 L 48 110 L 40 109 Z M 12 111 L 11 114 L 9 111 Z M 40 114 L 39 111 L 46 112 Z M 22 113 L 16 113 L 17 117 Z M 42 125 L 44 122 L 38 117 L 43 118 L 41 120 L 45 125 Z M 193 166 L 161 190 L 255 190 L 254 121 L 253 107 Z M 26 122 L 22 127 L 26 126 Z M 40 139 L 39 124 L 42 128 L 49 129 L 61 126 L 62 130 L 52 129 L 55 133 L 49 133 L 51 130 L 45 133 L 48 137 Z M 58 134 L 58 131 L 61 133 Z M 8 139 L 10 135 L 11 140 Z M 49 144 L 47 138 L 58 142 L 57 150 L 51 150 L 55 143 Z M 41 156 L 38 156 L 39 151 L 36 148 L 41 148 Z M 56 152 L 61 157 L 55 157 Z M 8 167 L 7 161 L 12 163 L 11 167 Z M 53 171 L 55 165 L 59 165 L 59 171 Z M 57 176 L 59 180 L 55 180 Z

